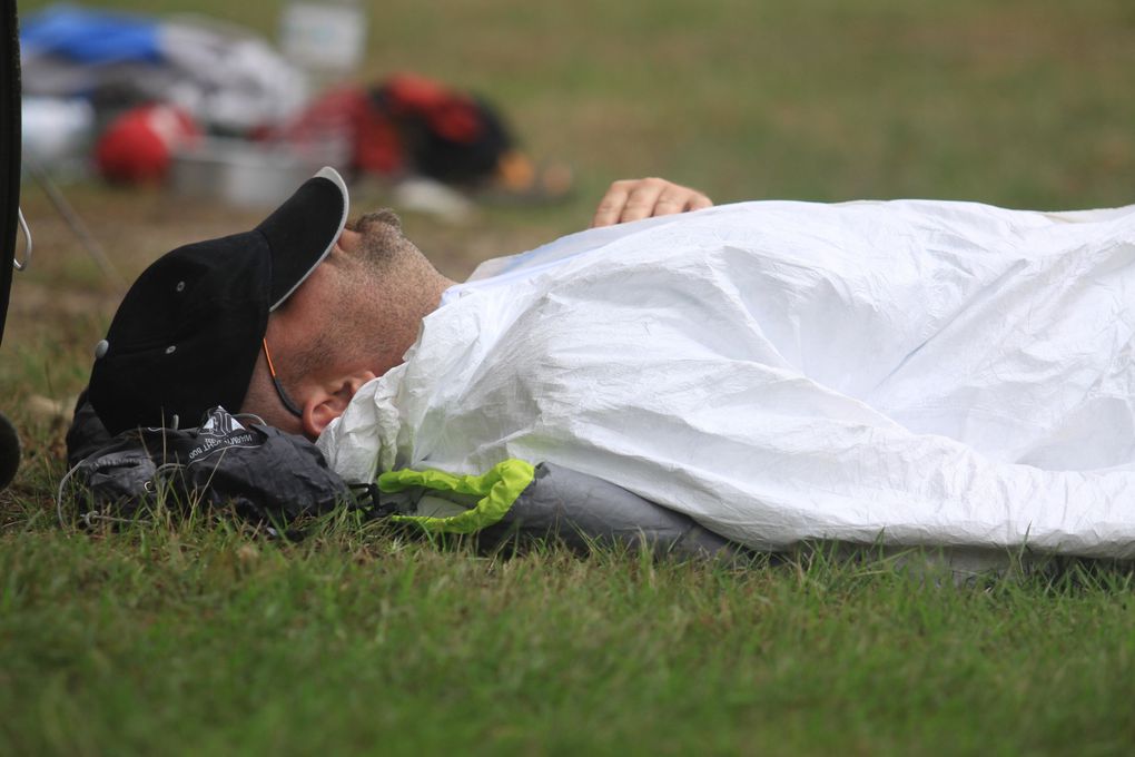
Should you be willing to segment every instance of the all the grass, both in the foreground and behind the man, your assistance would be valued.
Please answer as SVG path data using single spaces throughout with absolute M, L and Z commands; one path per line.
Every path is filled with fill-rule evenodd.
M 27 14 L 42 2 L 22 2 Z M 280 3 L 132 0 L 274 34 Z M 370 3 L 363 81 L 482 92 L 579 191 L 406 226 L 452 276 L 587 222 L 614 178 L 715 200 L 1133 199 L 1128 0 Z M 65 187 L 127 277 L 259 213 Z M 382 200 L 361 188 L 355 207 Z M 514 558 L 350 521 L 267 541 L 224 520 L 54 520 L 65 421 L 117 302 L 34 184 L 0 411 L 0 755 L 1130 754 L 1129 567 L 955 584 L 869 556 L 745 570 L 548 546 Z

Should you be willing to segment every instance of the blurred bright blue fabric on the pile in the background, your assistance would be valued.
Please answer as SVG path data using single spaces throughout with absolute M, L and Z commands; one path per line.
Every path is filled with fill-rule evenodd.
M 162 59 L 159 24 L 146 16 L 52 6 L 22 27 L 25 53 L 53 53 L 89 65 Z

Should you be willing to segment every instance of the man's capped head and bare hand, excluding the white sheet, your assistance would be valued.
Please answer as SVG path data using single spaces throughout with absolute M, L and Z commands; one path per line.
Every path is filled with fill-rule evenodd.
M 662 179 L 616 182 L 596 226 L 707 208 Z M 126 294 L 95 350 L 90 401 L 107 429 L 193 424 L 239 409 L 316 438 L 354 392 L 402 362 L 455 283 L 389 211 L 347 224 L 325 168 L 252 232 L 178 247 Z

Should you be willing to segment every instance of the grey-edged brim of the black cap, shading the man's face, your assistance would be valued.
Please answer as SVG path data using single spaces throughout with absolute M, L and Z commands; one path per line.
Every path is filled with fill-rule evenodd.
M 271 251 L 269 312 L 279 308 L 331 252 L 350 209 L 343 177 L 326 166 L 257 227 Z

